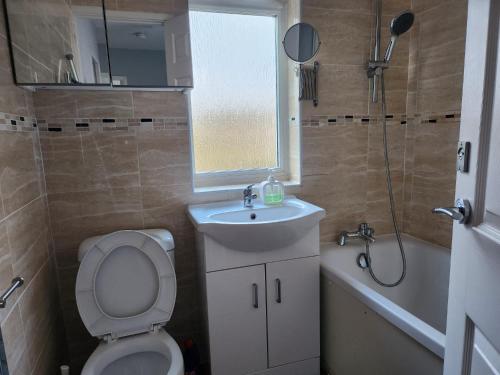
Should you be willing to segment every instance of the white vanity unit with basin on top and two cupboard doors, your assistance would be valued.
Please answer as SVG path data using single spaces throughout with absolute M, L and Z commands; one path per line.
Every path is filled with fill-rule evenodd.
M 212 375 L 319 375 L 319 221 L 295 197 L 190 206 Z

